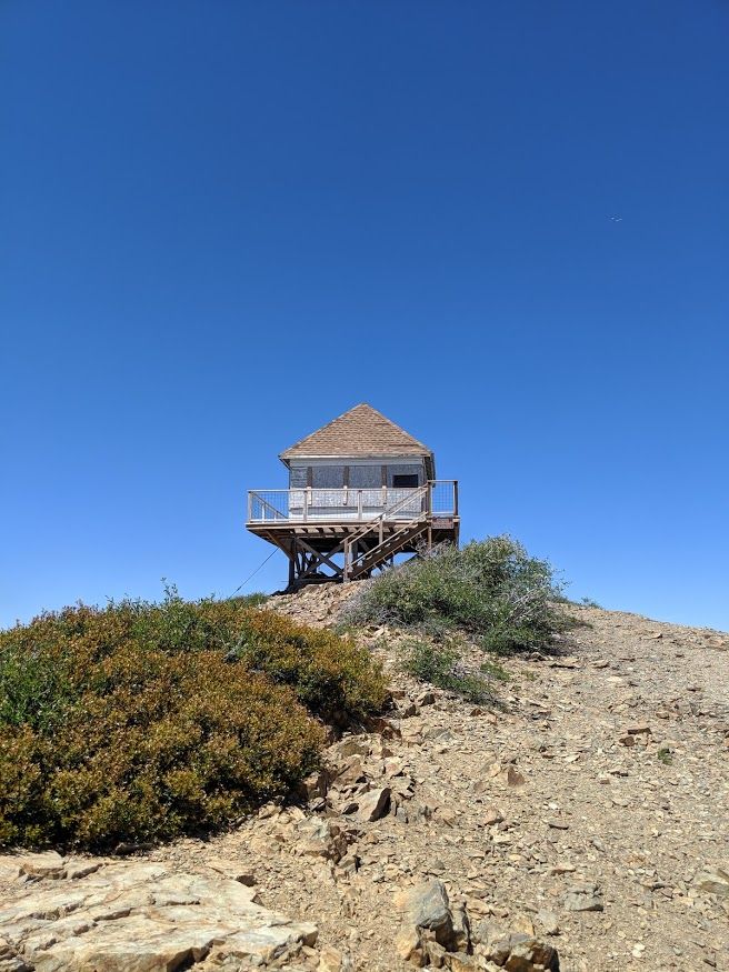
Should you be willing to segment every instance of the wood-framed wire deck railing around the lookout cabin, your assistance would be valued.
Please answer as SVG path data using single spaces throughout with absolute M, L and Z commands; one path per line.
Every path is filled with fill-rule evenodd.
M 458 482 L 439 479 L 427 488 L 250 490 L 248 523 L 286 524 L 314 520 L 339 523 L 363 522 L 392 511 L 393 520 L 415 520 L 427 512 L 433 517 L 458 515 Z

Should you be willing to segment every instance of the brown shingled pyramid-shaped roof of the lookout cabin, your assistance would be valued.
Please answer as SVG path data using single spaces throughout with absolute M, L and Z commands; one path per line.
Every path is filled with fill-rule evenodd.
M 283 462 L 299 458 L 354 458 L 368 455 L 425 455 L 431 450 L 368 404 L 354 405 L 343 415 L 299 440 L 281 453 Z

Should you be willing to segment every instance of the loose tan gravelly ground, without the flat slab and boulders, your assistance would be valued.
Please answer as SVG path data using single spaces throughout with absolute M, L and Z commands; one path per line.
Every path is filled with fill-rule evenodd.
M 340 597 L 311 591 L 273 607 L 327 624 Z M 306 819 L 273 814 L 157 856 L 236 861 L 267 906 L 313 921 L 322 942 L 372 972 L 412 968 L 395 946 L 393 901 L 430 876 L 472 923 L 533 929 L 563 970 L 729 970 L 729 898 L 696 883 L 729 862 L 729 638 L 575 613 L 589 627 L 560 657 L 506 662 L 507 711 L 393 673 L 396 734 L 332 746 L 342 775 Z M 361 637 L 391 664 L 385 635 Z M 386 816 L 351 812 L 358 793 L 385 785 Z M 317 836 L 317 821 L 350 841 L 339 863 L 331 844 L 342 836 Z M 602 910 L 569 910 L 580 894 Z

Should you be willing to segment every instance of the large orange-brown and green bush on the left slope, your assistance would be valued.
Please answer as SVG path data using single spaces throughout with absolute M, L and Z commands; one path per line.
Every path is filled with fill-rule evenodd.
M 0 633 L 0 844 L 224 825 L 316 765 L 316 717 L 385 697 L 352 642 L 246 599 L 69 608 Z

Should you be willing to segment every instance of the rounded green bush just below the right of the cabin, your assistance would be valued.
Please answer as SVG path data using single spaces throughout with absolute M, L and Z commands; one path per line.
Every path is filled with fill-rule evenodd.
M 549 563 L 510 537 L 446 545 L 373 580 L 349 609 L 353 622 L 396 623 L 435 633 L 461 628 L 483 648 L 509 653 L 543 648 L 561 618 Z

